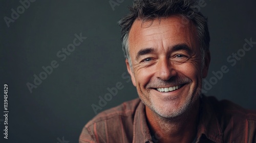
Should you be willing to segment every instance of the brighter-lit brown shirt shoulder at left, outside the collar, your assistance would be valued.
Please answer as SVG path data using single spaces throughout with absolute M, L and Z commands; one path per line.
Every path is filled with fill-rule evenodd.
M 119 134 L 121 128 L 125 128 L 127 134 L 132 134 L 134 114 L 140 102 L 137 98 L 100 112 L 84 126 L 79 141 L 101 142 L 100 140 L 115 139 L 112 135 Z

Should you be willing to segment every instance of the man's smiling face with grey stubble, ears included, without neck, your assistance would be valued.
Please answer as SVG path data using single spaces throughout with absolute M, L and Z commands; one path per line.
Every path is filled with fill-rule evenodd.
M 206 77 L 209 55 L 202 67 L 195 26 L 180 16 L 142 22 L 136 20 L 129 34 L 133 70 L 127 69 L 141 101 L 166 118 L 176 117 L 193 105 Z

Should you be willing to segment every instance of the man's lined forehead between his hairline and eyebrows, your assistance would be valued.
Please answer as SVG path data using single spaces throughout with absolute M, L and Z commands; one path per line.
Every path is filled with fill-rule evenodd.
M 165 47 L 187 44 L 197 47 L 197 31 L 193 23 L 182 16 L 173 15 L 148 21 L 137 19 L 129 33 L 130 54 L 146 47 Z

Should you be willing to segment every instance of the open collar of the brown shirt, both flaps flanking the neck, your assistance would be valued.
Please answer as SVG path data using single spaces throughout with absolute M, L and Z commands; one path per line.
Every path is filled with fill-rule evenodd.
M 204 95 L 201 96 L 200 100 L 197 142 L 202 139 L 203 134 L 211 141 L 222 142 L 223 133 L 213 105 Z M 135 111 L 133 129 L 133 143 L 153 142 L 146 123 L 145 105 L 142 102 L 140 102 Z

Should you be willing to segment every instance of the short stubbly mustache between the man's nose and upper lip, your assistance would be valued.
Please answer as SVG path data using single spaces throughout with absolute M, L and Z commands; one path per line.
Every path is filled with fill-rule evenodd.
M 191 79 L 183 76 L 171 77 L 169 80 L 154 79 L 147 83 L 146 88 L 172 87 L 192 82 Z

